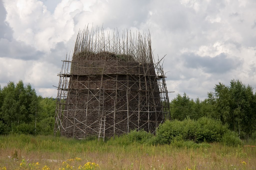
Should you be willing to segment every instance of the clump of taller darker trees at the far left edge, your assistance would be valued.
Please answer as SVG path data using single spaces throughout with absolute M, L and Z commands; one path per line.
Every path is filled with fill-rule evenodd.
M 30 84 L 24 86 L 20 80 L 16 85 L 9 82 L 2 89 L 2 106 L 0 120 L 8 127 L 35 120 L 37 95 Z

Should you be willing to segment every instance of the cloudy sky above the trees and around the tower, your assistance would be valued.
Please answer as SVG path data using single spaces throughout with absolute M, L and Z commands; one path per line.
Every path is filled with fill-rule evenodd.
M 79 29 L 150 30 L 170 99 L 207 98 L 239 79 L 256 89 L 255 0 L 0 0 L 0 84 L 23 80 L 56 97 L 63 60 Z

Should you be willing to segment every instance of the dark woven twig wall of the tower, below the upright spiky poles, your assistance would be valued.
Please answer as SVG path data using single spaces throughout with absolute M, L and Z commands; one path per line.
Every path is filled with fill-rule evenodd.
M 61 134 L 98 136 L 105 117 L 105 136 L 133 129 L 154 132 L 163 121 L 154 64 L 115 60 L 73 61 Z

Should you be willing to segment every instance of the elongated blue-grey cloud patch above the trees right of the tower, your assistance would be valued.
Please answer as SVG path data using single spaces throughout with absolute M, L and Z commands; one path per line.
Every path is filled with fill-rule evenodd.
M 215 57 L 198 56 L 196 54 L 184 54 L 182 56 L 184 65 L 189 68 L 201 68 L 207 73 L 226 73 L 241 66 L 243 61 L 237 57 L 227 58 L 225 53 L 221 53 Z

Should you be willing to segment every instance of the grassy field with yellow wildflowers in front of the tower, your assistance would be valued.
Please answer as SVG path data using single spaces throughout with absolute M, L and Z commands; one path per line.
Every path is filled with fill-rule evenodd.
M 128 142 L 126 136 L 103 142 L 14 134 L 0 136 L 0 169 L 256 169 L 255 141 L 239 147 L 190 144 L 153 146 Z

